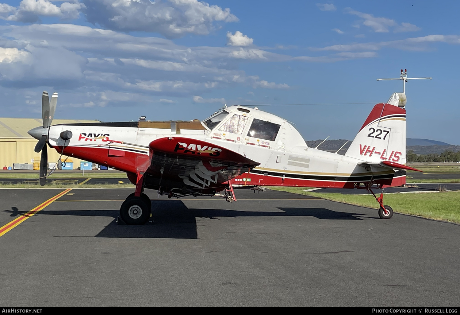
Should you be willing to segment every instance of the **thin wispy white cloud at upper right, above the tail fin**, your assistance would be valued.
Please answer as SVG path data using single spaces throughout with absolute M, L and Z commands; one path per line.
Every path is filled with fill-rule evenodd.
M 362 18 L 362 25 L 368 26 L 374 30 L 376 33 L 387 33 L 391 27 L 394 27 L 393 32 L 412 32 L 420 30 L 419 27 L 415 26 L 414 24 L 410 23 L 401 23 L 398 24 L 395 20 L 391 18 L 378 18 L 374 17 L 374 15 L 369 13 L 363 13 L 359 11 L 355 11 L 351 8 L 345 8 L 345 13 L 356 15 Z M 359 25 L 353 25 L 353 27 L 358 27 Z

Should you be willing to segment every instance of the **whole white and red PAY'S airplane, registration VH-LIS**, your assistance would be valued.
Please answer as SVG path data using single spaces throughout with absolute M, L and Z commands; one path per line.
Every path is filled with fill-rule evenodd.
M 191 121 L 94 122 L 51 126 L 57 93 L 43 92 L 43 127 L 29 131 L 39 140 L 40 185 L 45 184 L 46 144 L 57 152 L 127 173 L 136 185 L 121 205 L 127 224 L 149 220 L 144 188 L 171 197 L 221 196 L 236 201 L 233 187 L 294 186 L 359 188 L 393 210 L 371 187 L 402 186 L 406 163 L 406 96 L 394 93 L 374 106 L 345 155 L 308 147 L 287 120 L 257 108 L 230 106 Z

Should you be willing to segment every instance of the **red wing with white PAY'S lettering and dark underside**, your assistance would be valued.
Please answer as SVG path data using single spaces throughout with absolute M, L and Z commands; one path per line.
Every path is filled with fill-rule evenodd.
M 260 163 L 212 143 L 167 137 L 149 144 L 153 151 L 148 172 L 159 186 L 207 188 L 218 186 Z

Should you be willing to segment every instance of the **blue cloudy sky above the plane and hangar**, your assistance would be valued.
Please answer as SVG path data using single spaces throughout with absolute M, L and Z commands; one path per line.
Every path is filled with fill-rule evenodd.
M 260 107 L 353 139 L 406 85 L 407 135 L 460 144 L 458 1 L 0 0 L 0 117 L 203 119 Z M 345 104 L 369 103 L 369 104 Z

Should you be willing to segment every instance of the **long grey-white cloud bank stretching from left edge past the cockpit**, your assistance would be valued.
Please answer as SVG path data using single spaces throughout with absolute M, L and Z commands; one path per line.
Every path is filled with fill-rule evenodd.
M 2 71 L 0 85 L 36 86 L 43 83 L 41 79 L 51 80 L 54 76 L 52 84 L 59 87 L 161 96 L 196 95 L 235 85 L 287 88 L 283 83 L 247 76 L 237 70 L 237 64 L 244 59 L 292 59 L 257 48 L 183 47 L 157 37 L 137 37 L 73 24 L 0 26 L 0 34 L 0 42 L 17 46 L 14 52 L 22 50 L 29 54 L 33 64 L 9 69 L 2 65 L 0 71 L 8 71 Z M 52 70 L 47 69 L 49 64 Z M 34 70 L 37 67 L 43 69 Z

